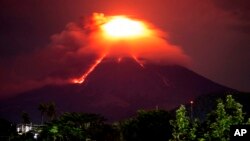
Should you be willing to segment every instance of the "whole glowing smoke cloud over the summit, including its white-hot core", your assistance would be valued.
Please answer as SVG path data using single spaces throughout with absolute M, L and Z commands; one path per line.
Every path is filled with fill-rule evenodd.
M 18 73 L 8 76 L 15 82 L 5 83 L 0 91 L 15 93 L 48 84 L 81 84 L 104 57 L 116 58 L 117 63 L 122 58 L 134 58 L 141 67 L 148 62 L 186 66 L 190 58 L 166 37 L 144 19 L 94 13 L 79 23 L 68 23 L 63 31 L 51 36 L 46 47 L 16 57 L 18 61 L 11 67 L 18 68 Z M 20 67 L 24 64 L 29 65 Z

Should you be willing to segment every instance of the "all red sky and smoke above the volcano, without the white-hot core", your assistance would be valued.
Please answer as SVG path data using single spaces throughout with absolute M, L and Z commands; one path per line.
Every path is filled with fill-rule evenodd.
M 134 54 L 165 64 L 186 64 L 186 52 L 192 58 L 188 68 L 193 71 L 226 86 L 250 90 L 249 1 L 24 0 L 20 3 L 6 0 L 0 3 L 0 97 L 48 84 L 68 83 L 86 72 L 90 63 L 94 64 L 106 50 L 109 50 L 107 55 L 118 58 Z M 85 22 L 96 11 L 108 16 L 96 14 L 99 17 L 95 16 L 94 24 Z M 100 26 L 117 16 L 153 23 L 167 35 L 146 24 L 150 31 L 156 31 L 154 36 L 150 34 L 140 41 L 129 39 L 136 42 L 117 38 L 107 41 L 100 34 L 104 33 L 100 32 Z M 74 22 L 80 17 L 83 17 L 80 22 Z M 83 27 L 87 24 L 93 28 L 85 31 Z M 89 57 L 93 54 L 95 60 Z

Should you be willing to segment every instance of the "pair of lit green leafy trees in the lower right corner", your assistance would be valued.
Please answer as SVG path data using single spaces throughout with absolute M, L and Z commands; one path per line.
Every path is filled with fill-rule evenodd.
M 182 105 L 176 111 L 176 119 L 170 121 L 173 126 L 171 141 L 228 141 L 231 125 L 250 123 L 250 119 L 245 118 L 242 108 L 232 95 L 228 95 L 224 101 L 217 101 L 216 109 L 208 114 L 203 124 L 200 124 L 197 120 L 190 120 L 185 106 Z

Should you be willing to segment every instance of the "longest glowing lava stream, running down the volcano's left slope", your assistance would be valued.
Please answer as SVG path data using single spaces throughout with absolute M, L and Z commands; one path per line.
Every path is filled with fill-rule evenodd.
M 72 79 L 71 82 L 75 83 L 75 84 L 82 84 L 86 78 L 89 76 L 89 74 L 96 68 L 96 66 L 98 66 L 103 58 L 106 56 L 106 54 L 102 55 L 99 59 L 97 59 L 95 61 L 95 63 L 87 70 L 87 72 L 85 72 L 80 78 L 75 78 Z

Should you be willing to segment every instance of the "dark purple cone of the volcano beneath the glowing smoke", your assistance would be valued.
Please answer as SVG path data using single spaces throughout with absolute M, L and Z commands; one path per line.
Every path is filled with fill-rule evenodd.
M 38 105 L 53 101 L 62 112 L 98 113 L 109 121 L 139 109 L 171 110 L 195 98 L 232 89 L 179 65 L 139 64 L 133 58 L 104 58 L 82 84 L 49 85 L 1 101 L 1 117 L 20 121 L 22 111 L 38 122 Z

